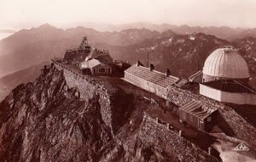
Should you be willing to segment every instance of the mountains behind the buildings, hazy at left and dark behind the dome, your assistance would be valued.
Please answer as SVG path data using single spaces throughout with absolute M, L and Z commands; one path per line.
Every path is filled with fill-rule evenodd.
M 168 27 L 163 26 L 166 26 L 166 29 Z M 175 26 L 172 26 L 172 29 L 174 28 Z M 196 28 L 181 26 L 176 29 L 183 33 L 186 29 Z M 201 29 L 203 28 L 199 27 L 198 31 Z M 29 69 L 33 64 L 40 64 L 54 57 L 63 57 L 67 48 L 79 47 L 83 36 L 88 36 L 92 47 L 108 49 L 113 59 L 132 63 L 140 59 L 145 65 L 152 62 L 157 70 L 164 71 L 169 68 L 172 75 L 181 77 L 188 77 L 196 70 L 200 70 L 212 48 L 233 45 L 240 48 L 242 55 L 247 59 L 251 74 L 256 75 L 256 38 L 253 36 L 236 38 L 230 42 L 218 38 L 220 36 L 194 31 L 189 31 L 191 34 L 180 32 L 170 29 L 162 32 L 150 31 L 144 28 L 101 32 L 81 26 L 64 31 L 45 24 L 38 28 L 15 32 L 14 35 L 0 41 L 0 77 Z M 220 30 L 218 33 L 221 32 L 224 31 Z M 29 72 L 27 74 L 31 75 Z

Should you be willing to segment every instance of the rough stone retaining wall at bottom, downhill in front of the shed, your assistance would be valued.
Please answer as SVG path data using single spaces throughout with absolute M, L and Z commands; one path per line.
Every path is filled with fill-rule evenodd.
M 156 120 L 147 114 L 143 117 L 139 139 L 148 146 L 154 146 L 157 142 L 162 142 L 161 148 L 177 156 L 180 161 L 218 161 L 217 158 L 180 137 L 177 131 L 169 130 L 165 125 L 156 123 Z

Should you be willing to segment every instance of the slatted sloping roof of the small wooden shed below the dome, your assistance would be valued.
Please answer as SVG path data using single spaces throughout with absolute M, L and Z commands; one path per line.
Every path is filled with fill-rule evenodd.
M 194 115 L 201 120 L 206 119 L 209 115 L 212 115 L 217 109 L 212 108 L 211 106 L 201 103 L 200 101 L 191 100 L 188 103 L 185 103 L 179 110 L 185 111 L 190 115 Z

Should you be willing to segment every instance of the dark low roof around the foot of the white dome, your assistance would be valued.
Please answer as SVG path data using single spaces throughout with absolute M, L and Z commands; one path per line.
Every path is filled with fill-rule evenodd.
M 202 83 L 202 85 L 206 85 L 207 87 L 212 87 L 224 92 L 243 92 L 256 94 L 256 90 L 253 89 L 253 87 L 234 80 L 209 81 Z

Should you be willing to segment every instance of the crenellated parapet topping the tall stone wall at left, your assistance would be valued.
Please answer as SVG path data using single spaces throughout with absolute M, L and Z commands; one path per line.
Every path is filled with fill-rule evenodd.
M 88 75 L 81 75 L 81 74 L 79 74 L 78 72 L 76 72 L 76 71 L 74 71 L 74 70 L 71 70 L 71 69 L 68 68 L 67 66 L 65 66 L 65 65 L 63 65 L 63 64 L 61 64 L 61 63 L 58 63 L 57 61 L 62 61 L 62 58 L 51 59 L 51 61 L 52 61 L 54 64 L 57 64 L 58 66 L 61 66 L 61 68 L 66 69 L 66 70 L 69 71 L 69 72 L 72 72 L 73 75 L 79 76 L 80 78 L 84 79 L 84 81 L 89 82 L 91 85 L 95 86 L 95 87 L 98 88 L 100 91 L 105 92 L 105 93 L 108 93 L 108 90 L 107 90 L 103 85 L 100 85 L 100 84 L 96 83 L 96 81 L 93 81 L 93 79 L 91 79 Z

